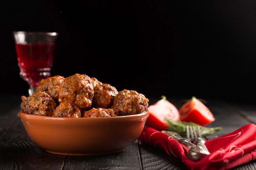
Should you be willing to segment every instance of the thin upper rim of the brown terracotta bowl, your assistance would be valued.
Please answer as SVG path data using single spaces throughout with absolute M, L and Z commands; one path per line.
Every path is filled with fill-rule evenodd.
M 122 119 L 138 119 L 138 117 L 148 117 L 149 116 L 149 110 L 146 110 L 139 114 L 134 115 L 124 115 L 124 116 L 115 116 L 115 117 L 51 117 L 51 116 L 40 116 L 40 115 L 31 115 L 28 113 L 22 112 L 22 110 L 19 111 L 19 117 L 26 117 L 27 119 L 47 119 L 47 120 L 74 120 L 74 119 L 90 119 L 90 120 L 122 120 Z

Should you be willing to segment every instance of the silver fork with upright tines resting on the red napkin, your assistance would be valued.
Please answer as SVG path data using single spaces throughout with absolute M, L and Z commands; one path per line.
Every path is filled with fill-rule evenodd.
M 200 130 L 199 126 L 197 126 L 197 130 L 196 130 L 195 126 L 187 125 L 186 126 L 186 136 L 187 136 L 187 139 L 191 139 L 190 141 L 193 144 L 196 144 L 198 146 L 202 146 L 202 148 L 204 148 L 204 150 L 209 152 L 207 147 L 205 146 L 205 141 L 202 138 L 201 130 Z

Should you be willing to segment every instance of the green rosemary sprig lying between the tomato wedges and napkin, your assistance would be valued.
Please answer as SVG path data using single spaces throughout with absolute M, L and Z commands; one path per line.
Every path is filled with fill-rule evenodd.
M 185 121 L 174 121 L 171 119 L 167 119 L 166 121 L 168 122 L 168 130 L 173 131 L 173 132 L 177 132 L 178 134 L 180 134 L 181 136 L 186 136 L 186 126 L 199 126 L 200 130 L 201 130 L 201 135 L 202 137 L 205 137 L 207 135 L 211 135 L 215 132 L 218 132 L 220 130 L 222 130 L 222 127 L 215 127 L 215 128 L 208 128 L 208 127 L 204 127 L 201 126 L 199 124 L 195 124 L 192 122 L 185 122 Z

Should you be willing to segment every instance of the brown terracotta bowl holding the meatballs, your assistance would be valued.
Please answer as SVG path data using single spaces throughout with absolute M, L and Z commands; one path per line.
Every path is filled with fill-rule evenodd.
M 141 134 L 149 112 L 119 117 L 45 117 L 19 112 L 29 137 L 59 155 L 121 152 Z

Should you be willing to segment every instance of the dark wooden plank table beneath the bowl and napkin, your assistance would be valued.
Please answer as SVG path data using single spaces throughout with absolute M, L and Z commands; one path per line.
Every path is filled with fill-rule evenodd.
M 159 97 L 157 97 L 159 99 Z M 156 102 L 148 97 L 150 103 Z M 169 99 L 177 108 L 179 100 Z M 28 137 L 18 117 L 20 96 L 0 98 L 0 170 L 187 170 L 180 159 L 161 150 L 141 144 L 138 140 L 122 152 L 100 156 L 65 156 L 46 152 Z M 256 105 L 230 104 L 207 100 L 207 107 L 216 121 L 209 127 L 221 126 L 220 136 L 246 124 L 256 123 Z M 232 170 L 255 170 L 256 161 L 251 161 Z

